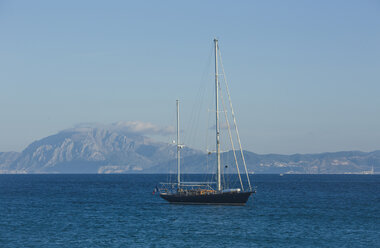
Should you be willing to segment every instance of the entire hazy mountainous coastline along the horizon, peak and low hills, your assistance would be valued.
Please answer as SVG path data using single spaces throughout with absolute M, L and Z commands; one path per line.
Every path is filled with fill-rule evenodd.
M 257 174 L 377 174 L 380 150 L 317 154 L 257 154 L 244 151 L 248 172 Z M 221 155 L 225 173 L 234 173 L 231 151 Z M 213 173 L 215 156 L 185 147 L 183 173 Z M 176 172 L 176 146 L 115 126 L 64 130 L 28 145 L 0 152 L 0 174 Z

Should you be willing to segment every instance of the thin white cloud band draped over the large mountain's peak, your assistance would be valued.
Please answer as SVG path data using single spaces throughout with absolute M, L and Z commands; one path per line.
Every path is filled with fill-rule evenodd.
M 172 126 L 158 126 L 150 122 L 142 121 L 119 121 L 112 124 L 99 124 L 99 123 L 80 123 L 74 126 L 74 128 L 66 129 L 64 131 L 75 132 L 87 132 L 92 129 L 107 129 L 118 130 L 125 133 L 139 134 L 139 135 L 161 135 L 167 136 L 175 133 L 175 129 Z

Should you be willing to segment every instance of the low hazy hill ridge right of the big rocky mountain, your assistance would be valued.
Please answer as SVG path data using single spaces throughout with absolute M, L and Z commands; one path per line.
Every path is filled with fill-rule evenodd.
M 208 158 L 206 158 L 208 156 Z M 236 171 L 232 151 L 222 153 L 225 158 L 224 171 Z M 372 152 L 339 151 L 317 154 L 257 154 L 244 151 L 244 157 L 249 173 L 276 173 L 276 174 L 371 174 L 380 169 L 380 150 Z M 207 161 L 207 162 L 204 162 Z M 183 158 L 181 171 L 183 173 L 214 173 L 212 165 L 216 164 L 215 156 L 197 154 Z M 240 172 L 244 171 L 241 157 L 238 156 Z M 211 165 L 211 166 L 210 166 Z M 227 166 L 227 167 L 226 167 Z M 158 164 L 148 171 L 159 173 L 163 168 L 170 168 L 169 172 L 176 171 L 176 160 Z M 211 167 L 211 170 L 209 170 Z M 215 166 L 214 166 L 215 167 Z M 235 172 L 236 173 L 236 172 Z

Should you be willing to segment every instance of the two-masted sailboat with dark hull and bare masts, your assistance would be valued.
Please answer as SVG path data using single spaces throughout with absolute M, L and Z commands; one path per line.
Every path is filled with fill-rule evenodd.
M 245 164 L 243 150 L 241 148 L 240 138 L 237 131 L 236 120 L 234 118 L 234 124 L 236 128 L 236 133 L 238 136 L 241 160 L 244 163 L 245 172 L 247 175 L 246 182 L 248 187 L 244 189 L 243 181 L 240 175 L 239 166 L 237 164 L 237 155 L 235 149 L 232 149 L 238 177 L 240 180 L 240 187 L 238 188 L 228 188 L 222 183 L 222 169 L 221 169 L 221 148 L 220 148 L 220 123 L 219 123 L 219 78 L 218 78 L 218 40 L 214 39 L 215 47 L 215 136 L 216 136 L 216 181 L 215 182 L 183 182 L 181 181 L 181 156 L 180 151 L 182 145 L 180 143 L 180 128 L 179 128 L 179 100 L 176 101 L 177 106 L 177 181 L 174 183 L 161 183 L 158 189 L 161 198 L 165 199 L 170 203 L 177 204 L 226 204 L 226 205 L 245 205 L 249 197 L 255 193 L 252 189 L 250 179 L 248 176 L 247 166 Z M 231 104 L 232 106 L 232 104 Z M 233 113 L 233 111 L 232 111 Z M 227 120 L 227 118 L 226 118 Z M 227 121 L 228 123 L 228 121 Z M 231 132 L 230 132 L 231 136 Z M 231 139 L 232 142 L 232 139 Z

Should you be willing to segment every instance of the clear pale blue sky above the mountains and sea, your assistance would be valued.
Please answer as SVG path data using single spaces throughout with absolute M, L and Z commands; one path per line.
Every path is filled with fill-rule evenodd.
M 379 150 L 379 27 L 376 0 L 0 0 L 0 151 L 81 123 L 165 129 L 176 99 L 186 133 L 214 37 L 245 149 Z

